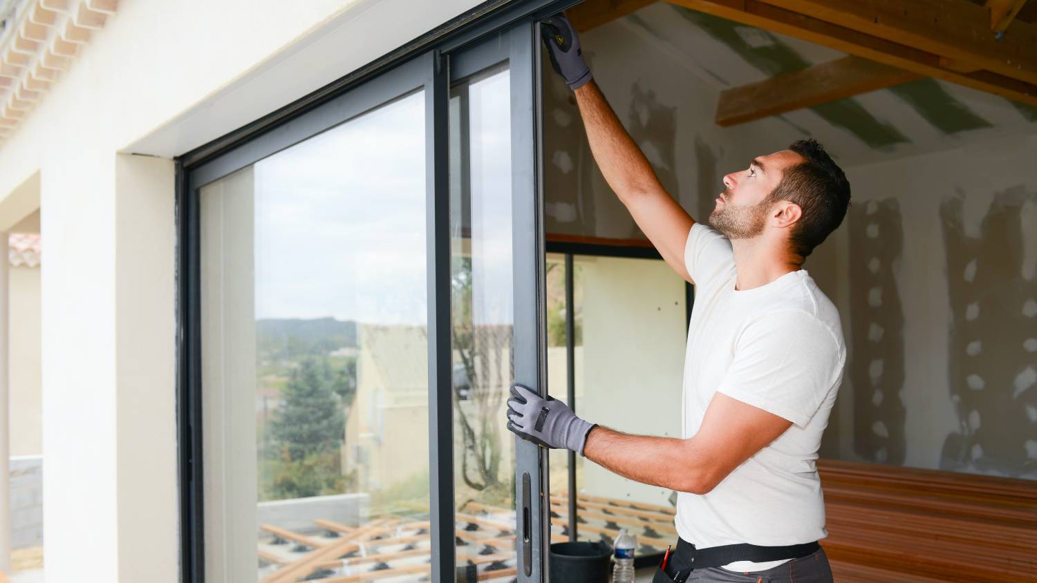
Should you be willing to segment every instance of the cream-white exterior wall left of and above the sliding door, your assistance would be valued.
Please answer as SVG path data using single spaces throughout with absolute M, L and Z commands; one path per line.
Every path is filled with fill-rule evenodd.
M 121 2 L 0 146 L 0 225 L 44 209 L 49 579 L 178 577 L 168 157 L 477 3 Z

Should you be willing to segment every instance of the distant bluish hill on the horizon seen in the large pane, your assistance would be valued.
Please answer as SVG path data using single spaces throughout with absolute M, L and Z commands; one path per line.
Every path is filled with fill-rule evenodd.
M 293 358 L 327 354 L 357 346 L 357 323 L 334 318 L 269 318 L 256 320 L 256 344 L 261 356 Z

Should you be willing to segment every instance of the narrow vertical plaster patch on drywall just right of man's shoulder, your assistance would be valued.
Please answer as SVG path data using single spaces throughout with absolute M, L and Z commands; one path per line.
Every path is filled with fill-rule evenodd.
M 871 200 L 849 211 L 849 301 L 853 350 L 853 450 L 904 462 L 904 315 L 896 271 L 903 252 L 900 203 Z

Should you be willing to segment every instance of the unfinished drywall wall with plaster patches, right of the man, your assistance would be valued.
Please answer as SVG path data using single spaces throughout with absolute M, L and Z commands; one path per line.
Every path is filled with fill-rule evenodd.
M 1037 479 L 1035 157 L 1031 136 L 847 170 L 842 456 Z

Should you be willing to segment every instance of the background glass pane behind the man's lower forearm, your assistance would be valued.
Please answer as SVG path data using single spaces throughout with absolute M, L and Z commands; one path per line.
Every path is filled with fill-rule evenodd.
M 679 437 L 684 282 L 662 260 L 576 256 L 573 265 L 580 415 L 624 432 Z M 579 456 L 577 486 L 580 540 L 611 544 L 626 528 L 637 536 L 638 554 L 646 555 L 676 538 L 672 490 L 626 479 Z M 552 501 L 567 504 L 554 491 Z

